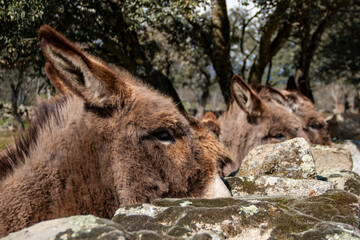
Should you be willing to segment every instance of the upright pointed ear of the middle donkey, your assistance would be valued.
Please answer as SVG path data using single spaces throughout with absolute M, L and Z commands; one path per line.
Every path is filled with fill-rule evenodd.
M 265 103 L 237 74 L 232 78 L 231 92 L 236 102 L 249 116 L 261 116 L 265 109 Z

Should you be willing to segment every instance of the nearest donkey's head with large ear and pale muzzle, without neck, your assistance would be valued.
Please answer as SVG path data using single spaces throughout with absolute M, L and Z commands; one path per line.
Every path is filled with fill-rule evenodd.
M 118 202 L 229 196 L 216 168 L 227 153 L 170 98 L 84 53 L 49 26 L 40 28 L 39 40 L 52 83 L 83 104 L 83 131 L 97 138 L 96 157 Z

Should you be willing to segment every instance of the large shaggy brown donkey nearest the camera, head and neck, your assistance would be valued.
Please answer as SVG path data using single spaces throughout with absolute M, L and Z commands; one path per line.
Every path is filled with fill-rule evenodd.
M 28 134 L 1 154 L 0 236 L 74 214 L 110 218 L 160 197 L 230 196 L 214 135 L 49 26 L 38 36 L 47 74 L 70 94 L 40 102 Z

